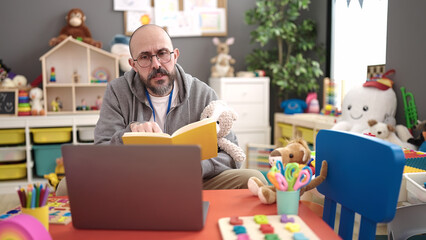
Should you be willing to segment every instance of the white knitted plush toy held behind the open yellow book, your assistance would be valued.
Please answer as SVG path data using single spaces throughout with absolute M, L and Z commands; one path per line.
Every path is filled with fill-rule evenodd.
M 231 109 L 224 101 L 216 100 L 209 103 L 201 113 L 201 119 L 213 118 L 216 120 L 217 145 L 220 149 L 228 153 L 234 161 L 243 162 L 246 160 L 244 151 L 225 137 L 231 132 L 234 121 L 237 120 L 237 113 Z

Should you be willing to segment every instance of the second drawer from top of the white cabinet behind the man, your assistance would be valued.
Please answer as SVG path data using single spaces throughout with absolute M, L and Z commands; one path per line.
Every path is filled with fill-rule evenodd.
M 265 109 L 262 103 L 232 104 L 232 108 L 238 114 L 235 128 L 269 126 L 269 109 Z

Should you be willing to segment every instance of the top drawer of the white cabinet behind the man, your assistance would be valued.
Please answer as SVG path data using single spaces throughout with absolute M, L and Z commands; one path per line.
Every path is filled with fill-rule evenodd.
M 263 102 L 265 91 L 265 84 L 227 83 L 221 98 L 227 102 Z

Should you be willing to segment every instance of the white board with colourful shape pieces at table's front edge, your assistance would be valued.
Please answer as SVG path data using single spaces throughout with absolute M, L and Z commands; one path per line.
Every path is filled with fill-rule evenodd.
M 218 220 L 222 239 L 319 239 L 297 215 L 233 216 Z

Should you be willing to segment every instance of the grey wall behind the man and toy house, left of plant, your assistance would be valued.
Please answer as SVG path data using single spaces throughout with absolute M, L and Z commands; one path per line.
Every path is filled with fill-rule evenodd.
M 236 59 L 236 71 L 246 69 L 245 55 L 256 47 L 249 39 L 253 27 L 244 22 L 245 11 L 254 6 L 255 0 L 228 0 L 228 37 L 235 37 L 230 54 Z M 39 57 L 51 48 L 50 38 L 59 35 L 66 14 L 76 7 L 86 14 L 93 39 L 103 42 L 103 49 L 109 51 L 114 35 L 124 33 L 123 12 L 113 11 L 112 0 L 13 0 L 0 7 L 0 59 L 12 72 L 33 81 L 41 74 Z M 185 71 L 207 81 L 210 58 L 216 55 L 212 38 L 173 38 L 173 43 L 180 50 L 179 63 Z

